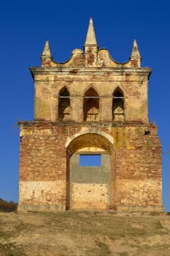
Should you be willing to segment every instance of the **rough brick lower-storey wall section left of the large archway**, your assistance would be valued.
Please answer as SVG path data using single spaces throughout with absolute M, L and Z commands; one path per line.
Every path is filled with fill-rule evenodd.
M 21 128 L 20 136 L 19 203 L 66 204 L 66 149 L 62 127 L 26 126 Z

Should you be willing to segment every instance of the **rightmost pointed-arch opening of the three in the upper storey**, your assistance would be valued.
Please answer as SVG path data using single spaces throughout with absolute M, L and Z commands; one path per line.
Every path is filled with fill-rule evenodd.
M 125 121 L 124 117 L 124 97 L 120 89 L 116 89 L 112 100 L 112 118 L 113 121 Z

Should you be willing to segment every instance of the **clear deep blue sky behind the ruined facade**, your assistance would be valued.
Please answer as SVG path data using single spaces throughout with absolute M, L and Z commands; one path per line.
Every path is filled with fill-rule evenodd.
M 19 120 L 33 120 L 34 83 L 28 70 L 39 66 L 49 39 L 55 61 L 82 48 L 93 18 L 99 48 L 128 61 L 134 38 L 142 67 L 151 67 L 150 121 L 158 125 L 163 151 L 170 150 L 169 0 L 1 0 L 0 197 L 18 202 Z M 170 153 L 163 154 L 163 206 L 170 211 Z

